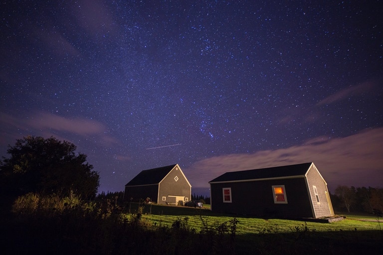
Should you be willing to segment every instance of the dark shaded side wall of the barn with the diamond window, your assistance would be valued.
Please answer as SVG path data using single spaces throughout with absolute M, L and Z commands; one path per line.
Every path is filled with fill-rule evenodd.
M 158 184 L 142 185 L 142 186 L 125 186 L 124 200 L 130 201 L 133 198 L 134 202 L 140 202 L 147 197 L 157 203 Z

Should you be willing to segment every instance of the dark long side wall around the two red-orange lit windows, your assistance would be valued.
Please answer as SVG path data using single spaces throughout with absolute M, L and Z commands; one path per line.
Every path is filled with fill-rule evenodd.
M 285 185 L 287 204 L 275 204 L 272 185 Z M 223 203 L 222 188 L 231 188 L 232 203 Z M 281 218 L 313 217 L 305 178 L 210 183 L 211 210 Z

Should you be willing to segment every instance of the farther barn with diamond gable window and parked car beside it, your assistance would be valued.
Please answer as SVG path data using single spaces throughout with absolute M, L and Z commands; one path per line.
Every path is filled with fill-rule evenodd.
M 191 196 L 192 185 L 175 164 L 140 172 L 125 185 L 124 201 L 150 198 L 158 204 L 183 205 Z

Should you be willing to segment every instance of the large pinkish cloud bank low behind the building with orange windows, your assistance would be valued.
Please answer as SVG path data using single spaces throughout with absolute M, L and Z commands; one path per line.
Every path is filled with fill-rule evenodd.
M 316 137 L 284 149 L 211 157 L 184 170 L 193 187 L 207 187 L 208 181 L 228 171 L 314 162 L 330 189 L 382 186 L 382 155 L 383 128 L 376 128 L 344 138 Z

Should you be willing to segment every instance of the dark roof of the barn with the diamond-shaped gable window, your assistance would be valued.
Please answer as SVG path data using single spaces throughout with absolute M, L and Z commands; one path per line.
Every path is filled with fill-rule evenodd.
M 158 184 L 176 165 L 177 164 L 143 170 L 125 186 Z

